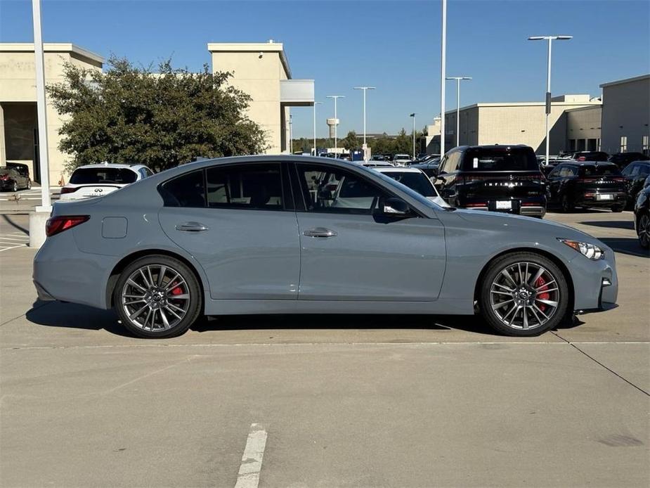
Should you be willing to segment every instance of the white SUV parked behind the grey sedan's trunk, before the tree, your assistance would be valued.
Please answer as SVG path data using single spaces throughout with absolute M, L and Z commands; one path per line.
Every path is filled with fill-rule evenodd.
M 144 165 L 103 162 L 99 165 L 79 166 L 72 172 L 68 184 L 61 188 L 60 200 L 100 197 L 152 174 L 151 169 Z

